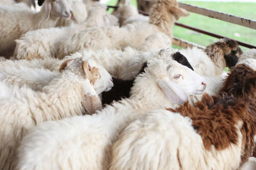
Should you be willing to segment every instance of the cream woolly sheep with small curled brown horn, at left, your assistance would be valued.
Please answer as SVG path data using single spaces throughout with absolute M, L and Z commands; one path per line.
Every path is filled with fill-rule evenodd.
M 47 120 L 100 110 L 98 94 L 113 86 L 110 74 L 92 59 L 65 60 L 60 71 L 42 91 L 12 86 L 13 95 L 1 99 L 0 169 L 13 169 L 15 150 L 29 129 Z

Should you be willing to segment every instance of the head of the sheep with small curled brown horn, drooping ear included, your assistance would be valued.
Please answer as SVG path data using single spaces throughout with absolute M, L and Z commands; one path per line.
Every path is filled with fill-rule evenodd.
M 84 108 L 90 114 L 102 109 L 98 94 L 110 90 L 113 87 L 111 75 L 94 62 L 94 60 L 83 60 L 83 57 L 67 59 L 61 66 L 60 71 L 72 72 L 79 76 L 83 94 Z

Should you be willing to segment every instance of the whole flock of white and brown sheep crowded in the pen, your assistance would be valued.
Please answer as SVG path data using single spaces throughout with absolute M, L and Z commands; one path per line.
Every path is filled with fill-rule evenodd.
M 37 3 L 0 0 L 0 169 L 256 169 L 256 49 L 171 48 L 176 0 Z

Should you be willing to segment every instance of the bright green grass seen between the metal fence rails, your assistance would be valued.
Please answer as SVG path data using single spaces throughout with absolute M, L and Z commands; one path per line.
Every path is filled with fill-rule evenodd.
M 239 17 L 250 18 L 256 20 L 255 6 L 256 3 L 220 3 L 220 2 L 199 2 L 199 1 L 183 1 L 184 3 L 193 4 L 196 6 L 202 6 L 211 10 L 222 11 L 237 15 Z M 256 45 L 256 30 L 243 27 L 236 24 L 230 24 L 214 18 L 205 17 L 195 13 L 190 13 L 189 17 L 180 18 L 180 23 L 191 25 L 193 27 L 204 29 L 209 32 L 220 34 L 221 36 L 227 36 L 228 38 L 244 41 L 252 45 Z M 235 34 L 239 34 L 237 37 Z M 199 45 L 207 46 L 215 41 L 217 38 L 212 38 L 204 34 L 200 34 L 189 29 L 184 29 L 179 26 L 173 27 L 173 35 L 177 38 L 186 39 Z M 243 48 L 246 50 L 246 48 Z

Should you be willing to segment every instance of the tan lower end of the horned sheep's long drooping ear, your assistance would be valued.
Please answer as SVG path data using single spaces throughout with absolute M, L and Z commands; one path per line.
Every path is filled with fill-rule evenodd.
M 92 115 L 96 110 L 102 110 L 102 104 L 98 95 L 84 95 L 84 107 Z

